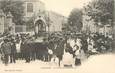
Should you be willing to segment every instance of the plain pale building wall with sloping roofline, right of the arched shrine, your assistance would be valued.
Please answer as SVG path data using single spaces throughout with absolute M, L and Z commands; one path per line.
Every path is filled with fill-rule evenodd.
M 62 31 L 63 23 L 67 22 L 67 17 L 53 11 L 48 11 L 47 13 L 50 19 L 49 31 L 50 32 Z

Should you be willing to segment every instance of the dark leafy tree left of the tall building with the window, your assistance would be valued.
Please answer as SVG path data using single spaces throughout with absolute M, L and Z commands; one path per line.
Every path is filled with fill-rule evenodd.
M 17 25 L 23 24 L 24 7 L 20 0 L 0 0 L 0 9 L 4 13 L 11 12 L 13 15 L 13 22 Z

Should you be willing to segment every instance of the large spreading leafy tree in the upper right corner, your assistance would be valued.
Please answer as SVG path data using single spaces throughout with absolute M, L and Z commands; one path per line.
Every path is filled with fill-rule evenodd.
M 114 0 L 93 0 L 86 7 L 88 16 L 95 22 L 107 24 L 109 20 L 113 21 Z

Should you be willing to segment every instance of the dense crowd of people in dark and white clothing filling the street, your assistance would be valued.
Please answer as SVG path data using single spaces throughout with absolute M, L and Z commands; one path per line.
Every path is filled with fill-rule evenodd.
M 0 40 L 0 59 L 5 64 L 25 60 L 57 62 L 58 66 L 81 65 L 83 56 L 112 51 L 112 37 L 102 34 L 50 34 L 42 42 L 36 42 L 34 35 L 18 34 L 5 36 Z

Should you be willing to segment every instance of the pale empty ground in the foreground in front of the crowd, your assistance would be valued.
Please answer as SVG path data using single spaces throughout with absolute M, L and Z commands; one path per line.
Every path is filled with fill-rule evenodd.
M 115 73 L 114 54 L 91 56 L 82 62 L 81 66 L 74 68 L 57 67 L 50 62 L 38 60 L 30 63 L 24 62 L 24 60 L 18 60 L 16 64 L 9 64 L 8 66 L 0 64 L 0 73 Z

